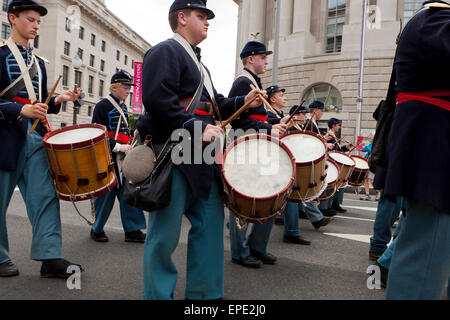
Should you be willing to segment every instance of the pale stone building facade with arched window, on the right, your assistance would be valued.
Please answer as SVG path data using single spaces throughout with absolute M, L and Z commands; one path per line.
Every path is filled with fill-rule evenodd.
M 274 48 L 277 0 L 234 0 L 239 5 L 236 72 L 239 52 L 249 40 Z M 385 98 L 392 72 L 396 39 L 402 25 L 421 0 L 367 0 L 362 112 L 357 112 L 363 0 L 279 0 L 280 41 L 278 85 L 286 88 L 288 106 L 306 100 L 325 102 L 320 123 L 326 130 L 331 117 L 343 120 L 342 135 L 369 136 L 375 130 L 372 114 Z M 403 22 L 403 23 L 402 23 Z M 271 85 L 273 55 L 262 77 Z M 356 132 L 360 116 L 361 131 Z M 352 140 L 350 140 L 352 139 Z

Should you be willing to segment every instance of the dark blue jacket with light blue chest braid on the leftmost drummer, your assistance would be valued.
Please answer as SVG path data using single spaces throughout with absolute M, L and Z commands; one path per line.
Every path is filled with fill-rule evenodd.
M 26 55 L 25 49 L 20 46 L 19 49 L 22 54 Z M 0 91 L 7 88 L 18 77 L 16 74 L 17 63 L 14 65 L 14 61 L 9 48 L 7 46 L 0 47 Z M 44 102 L 48 96 L 47 72 L 45 62 L 40 58 L 38 58 L 38 62 L 42 71 L 42 97 L 39 94 L 36 96 L 41 102 Z M 37 88 L 35 91 L 38 91 Z M 26 91 L 20 92 L 17 96 L 28 99 Z M 61 105 L 55 105 L 54 100 L 55 97 L 48 104 L 49 114 L 56 114 L 60 110 Z M 14 171 L 17 168 L 17 161 L 28 134 L 27 128 L 30 120 L 28 118 L 19 119 L 23 106 L 21 103 L 0 98 L 0 137 L 2 137 L 2 150 L 5 150 L 3 156 L 0 157 L 0 170 Z M 41 122 L 36 127 L 36 132 L 41 136 L 45 135 L 46 130 Z

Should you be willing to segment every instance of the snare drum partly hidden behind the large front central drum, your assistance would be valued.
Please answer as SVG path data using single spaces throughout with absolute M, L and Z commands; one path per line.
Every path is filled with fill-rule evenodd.
M 293 131 L 281 137 L 296 161 L 296 178 L 289 200 L 308 202 L 317 199 L 326 189 L 325 140 L 313 132 Z

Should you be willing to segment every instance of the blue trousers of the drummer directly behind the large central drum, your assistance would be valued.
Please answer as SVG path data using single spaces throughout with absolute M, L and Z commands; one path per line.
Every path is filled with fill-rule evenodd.
M 298 219 L 298 213 L 297 213 Z M 247 230 L 239 230 L 236 224 L 236 217 L 230 214 L 230 247 L 233 259 L 245 259 L 250 255 L 250 249 L 259 253 L 267 252 L 270 233 L 272 231 L 274 219 L 262 223 L 254 224 L 251 233 L 247 236 Z

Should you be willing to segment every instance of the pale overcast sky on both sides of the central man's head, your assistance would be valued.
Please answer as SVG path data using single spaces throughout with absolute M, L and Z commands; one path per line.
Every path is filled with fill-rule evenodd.
M 167 16 L 172 0 L 106 0 L 106 6 L 151 45 L 171 38 Z M 216 17 L 199 47 L 215 88 L 227 96 L 234 80 L 238 5 L 233 0 L 209 0 Z

